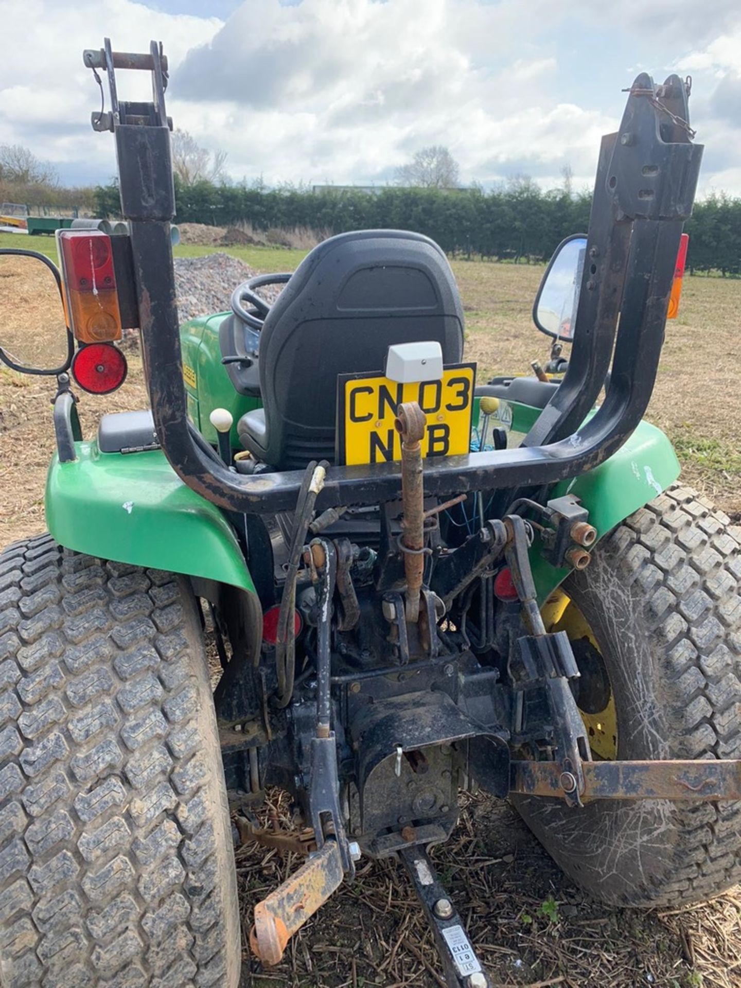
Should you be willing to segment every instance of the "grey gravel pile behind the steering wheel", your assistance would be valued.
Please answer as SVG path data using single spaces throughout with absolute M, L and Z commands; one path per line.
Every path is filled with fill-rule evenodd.
M 175 258 L 175 288 L 181 323 L 199 315 L 228 310 L 234 288 L 259 274 L 244 261 L 229 254 Z M 272 304 L 281 288 L 280 285 L 270 285 L 261 288 L 260 294 Z

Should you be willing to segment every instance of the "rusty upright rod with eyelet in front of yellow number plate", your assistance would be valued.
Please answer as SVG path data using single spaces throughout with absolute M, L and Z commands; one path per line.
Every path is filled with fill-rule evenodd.
M 419 596 L 425 568 L 425 493 L 422 484 L 422 447 L 427 419 L 416 401 L 405 401 L 396 410 L 394 427 L 401 437 L 401 502 L 404 509 L 401 545 L 406 576 L 405 613 L 408 621 L 419 618 Z

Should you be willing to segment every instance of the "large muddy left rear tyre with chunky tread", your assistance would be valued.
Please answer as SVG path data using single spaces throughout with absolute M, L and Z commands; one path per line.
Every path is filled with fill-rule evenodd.
M 0 555 L 0 984 L 235 988 L 239 961 L 193 595 L 17 542 Z

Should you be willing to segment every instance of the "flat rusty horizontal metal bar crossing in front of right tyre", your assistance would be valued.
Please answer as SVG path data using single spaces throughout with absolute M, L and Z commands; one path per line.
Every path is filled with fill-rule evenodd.
M 741 799 L 741 760 L 582 762 L 582 799 Z M 564 788 L 564 783 L 566 788 Z M 513 762 L 511 792 L 565 798 L 558 762 Z

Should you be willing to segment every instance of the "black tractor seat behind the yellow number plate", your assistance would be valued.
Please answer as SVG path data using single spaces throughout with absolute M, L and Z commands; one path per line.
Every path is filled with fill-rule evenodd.
M 337 375 L 385 369 L 388 347 L 436 340 L 459 363 L 463 312 L 451 266 L 428 237 L 341 233 L 301 262 L 260 334 L 264 408 L 238 423 L 242 444 L 277 469 L 334 462 Z

